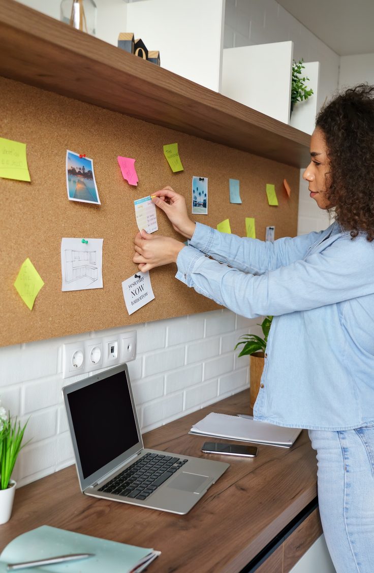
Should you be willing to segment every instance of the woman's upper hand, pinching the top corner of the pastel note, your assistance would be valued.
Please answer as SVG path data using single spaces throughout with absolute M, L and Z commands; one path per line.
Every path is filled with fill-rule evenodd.
M 187 214 L 186 200 L 183 195 L 176 193 L 172 187 L 166 186 L 152 195 L 152 201 L 166 214 L 177 233 L 188 239 L 192 237 L 196 225 Z

